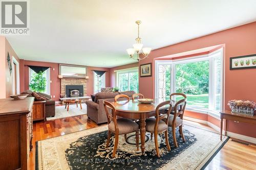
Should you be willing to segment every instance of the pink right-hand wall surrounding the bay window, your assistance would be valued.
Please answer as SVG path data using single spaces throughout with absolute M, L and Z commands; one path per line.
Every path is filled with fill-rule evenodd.
M 224 58 L 224 106 L 232 99 L 256 101 L 256 69 L 229 70 L 229 58 L 256 54 L 256 22 L 210 34 L 193 40 L 159 48 L 139 64 L 153 63 L 153 76 L 139 78 L 139 91 L 147 98 L 154 98 L 154 59 L 167 55 L 197 50 L 208 46 L 225 45 Z M 147 87 L 147 88 L 145 88 Z M 227 130 L 233 133 L 256 137 L 256 126 L 229 122 Z

